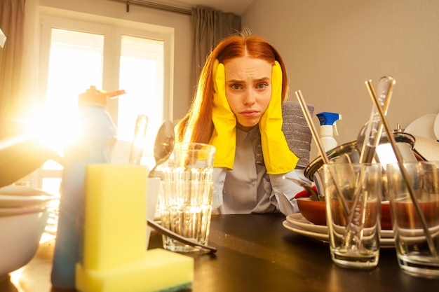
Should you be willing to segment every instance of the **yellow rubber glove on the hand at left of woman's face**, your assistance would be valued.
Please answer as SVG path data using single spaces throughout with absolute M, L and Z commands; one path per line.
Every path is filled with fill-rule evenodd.
M 232 169 L 236 151 L 236 116 L 231 111 L 226 97 L 226 71 L 224 64 L 215 60 L 213 64 L 213 109 L 214 125 L 209 144 L 215 146 L 214 167 Z

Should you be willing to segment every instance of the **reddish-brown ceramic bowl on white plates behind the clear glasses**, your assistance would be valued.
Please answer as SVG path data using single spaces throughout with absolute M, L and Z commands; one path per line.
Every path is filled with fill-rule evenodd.
M 324 201 L 311 201 L 309 197 L 298 197 L 297 206 L 300 213 L 316 225 L 326 225 L 326 211 Z M 381 229 L 392 229 L 389 202 L 381 203 Z

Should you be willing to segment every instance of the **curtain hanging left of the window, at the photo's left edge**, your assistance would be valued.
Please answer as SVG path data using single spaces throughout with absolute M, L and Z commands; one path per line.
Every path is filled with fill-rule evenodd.
M 0 48 L 0 139 L 15 134 L 23 55 L 25 0 L 0 1 L 0 27 L 6 35 Z

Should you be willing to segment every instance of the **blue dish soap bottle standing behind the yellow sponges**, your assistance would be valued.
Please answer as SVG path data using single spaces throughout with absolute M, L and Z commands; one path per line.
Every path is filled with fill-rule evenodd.
M 51 272 L 55 288 L 75 288 L 75 266 L 81 260 L 86 165 L 110 162 L 116 144 L 116 125 L 107 112 L 107 99 L 121 93 L 123 90 L 102 92 L 90 86 L 79 95 L 75 130 L 69 133 L 72 141 L 64 149 L 58 231 Z

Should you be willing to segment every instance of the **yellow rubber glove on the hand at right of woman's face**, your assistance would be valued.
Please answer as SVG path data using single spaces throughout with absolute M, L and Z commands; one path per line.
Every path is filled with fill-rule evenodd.
M 288 148 L 282 132 L 282 69 L 275 61 L 271 71 L 271 99 L 259 121 L 262 153 L 268 174 L 285 174 L 295 169 L 299 158 Z

